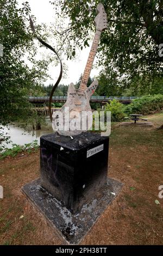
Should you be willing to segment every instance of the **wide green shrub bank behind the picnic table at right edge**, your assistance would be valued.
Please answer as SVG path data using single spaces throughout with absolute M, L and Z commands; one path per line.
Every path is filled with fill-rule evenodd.
M 124 112 L 127 114 L 151 114 L 163 109 L 163 95 L 147 95 L 126 106 Z

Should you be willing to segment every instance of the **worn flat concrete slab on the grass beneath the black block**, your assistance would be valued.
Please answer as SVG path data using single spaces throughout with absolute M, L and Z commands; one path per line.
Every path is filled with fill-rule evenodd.
M 108 178 L 103 189 L 74 215 L 41 187 L 40 179 L 24 185 L 22 192 L 51 224 L 54 232 L 65 244 L 76 245 L 115 199 L 122 186 L 121 182 Z

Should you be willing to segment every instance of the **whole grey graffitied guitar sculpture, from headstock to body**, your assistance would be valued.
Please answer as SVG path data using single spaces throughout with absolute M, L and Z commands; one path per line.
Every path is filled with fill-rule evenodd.
M 93 60 L 99 44 L 102 31 L 107 27 L 107 17 L 103 7 L 103 4 L 97 5 L 97 16 L 95 18 L 96 33 L 92 42 L 89 58 L 87 59 L 86 67 L 80 83 L 79 89 L 74 87 L 71 83 L 68 87 L 67 101 L 59 112 L 53 112 L 52 126 L 54 131 L 58 131 L 60 135 L 72 136 L 78 135 L 83 131 L 87 131 L 92 126 L 92 111 L 90 107 L 90 97 L 95 92 L 98 81 L 95 80 L 87 87 L 87 81 L 89 80 Z M 78 129 L 77 125 L 74 125 L 77 120 L 82 120 L 82 127 Z M 85 125 L 83 120 L 86 120 Z M 89 121 L 91 120 L 91 121 Z M 66 122 L 68 126 L 66 127 Z M 77 123 L 76 123 L 77 124 Z M 76 126 L 76 128 L 74 128 Z

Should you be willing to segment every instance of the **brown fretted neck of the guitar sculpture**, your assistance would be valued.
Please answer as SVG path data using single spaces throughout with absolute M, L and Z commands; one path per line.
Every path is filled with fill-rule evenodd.
M 82 77 L 82 81 L 81 81 L 80 86 L 79 86 L 80 90 L 85 90 L 87 88 L 87 86 L 86 86 L 87 81 L 89 80 L 89 77 L 90 77 L 90 72 L 91 72 L 91 69 L 92 69 L 93 60 L 95 59 L 95 55 L 96 55 L 97 47 L 98 47 L 98 44 L 99 44 L 99 39 L 101 37 L 101 33 L 102 33 L 101 31 L 96 30 L 95 37 L 94 37 L 93 42 L 92 42 L 92 47 L 91 47 L 91 51 L 90 51 L 90 54 L 89 54 L 89 58 L 87 59 L 84 74 L 83 74 L 83 77 Z

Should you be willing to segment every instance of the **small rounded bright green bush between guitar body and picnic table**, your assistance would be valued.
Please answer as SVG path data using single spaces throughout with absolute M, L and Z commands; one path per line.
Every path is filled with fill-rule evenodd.
M 112 100 L 110 103 L 107 103 L 105 105 L 105 111 L 111 112 L 111 121 L 112 122 L 118 122 L 122 121 L 125 117 L 124 107 L 122 103 L 118 102 L 117 100 Z

